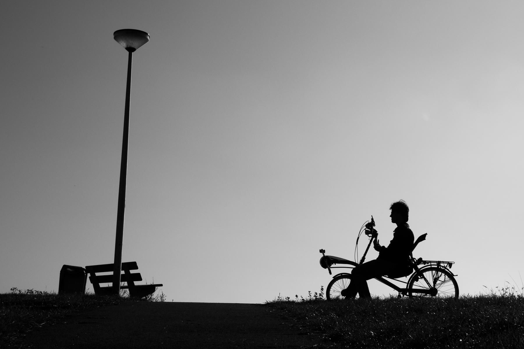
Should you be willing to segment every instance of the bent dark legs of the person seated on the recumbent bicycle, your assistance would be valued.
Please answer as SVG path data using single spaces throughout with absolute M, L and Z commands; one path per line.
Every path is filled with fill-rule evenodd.
M 351 272 L 351 283 L 341 292 L 342 296 L 355 298 L 357 293 L 360 297 L 370 298 L 369 287 L 366 280 L 387 274 L 394 267 L 385 260 L 373 260 L 356 266 Z

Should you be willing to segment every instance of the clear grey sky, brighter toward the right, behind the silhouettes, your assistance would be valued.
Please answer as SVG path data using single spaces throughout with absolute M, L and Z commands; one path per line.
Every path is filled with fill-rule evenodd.
M 372 215 L 387 245 L 399 199 L 428 233 L 413 255 L 454 261 L 461 295 L 522 287 L 522 17 L 510 1 L 2 2 L 0 292 L 113 262 L 124 28 L 150 41 L 122 258 L 167 300 L 319 291 L 319 249 L 353 260 Z

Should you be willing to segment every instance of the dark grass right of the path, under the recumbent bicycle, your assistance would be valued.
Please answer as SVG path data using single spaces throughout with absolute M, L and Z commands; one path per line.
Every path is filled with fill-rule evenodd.
M 524 348 L 524 296 L 508 288 L 451 298 L 276 298 L 326 342 L 349 348 Z

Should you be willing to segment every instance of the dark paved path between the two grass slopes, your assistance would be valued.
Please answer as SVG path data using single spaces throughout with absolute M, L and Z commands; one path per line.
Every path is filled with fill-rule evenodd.
M 317 348 L 278 310 L 243 303 L 121 302 L 30 332 L 31 348 Z

